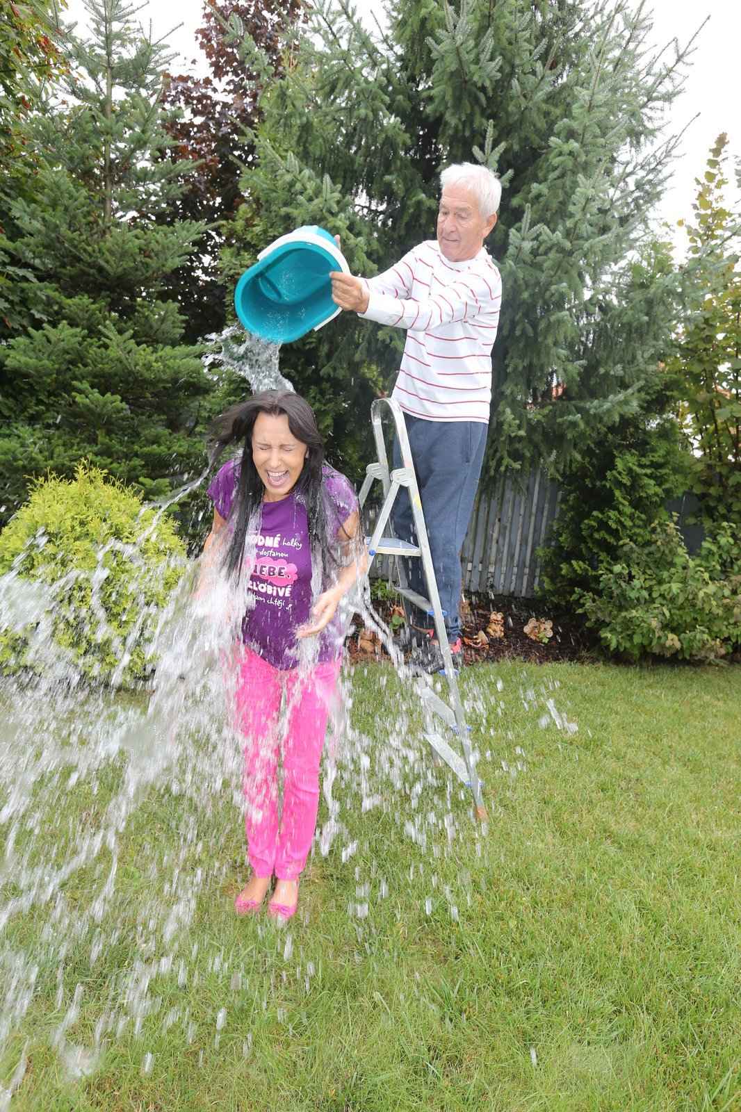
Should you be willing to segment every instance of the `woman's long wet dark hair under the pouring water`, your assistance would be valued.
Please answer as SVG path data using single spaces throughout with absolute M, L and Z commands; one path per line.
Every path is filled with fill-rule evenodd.
M 263 390 L 260 394 L 254 394 L 248 401 L 243 401 L 241 405 L 221 414 L 209 428 L 213 435 L 216 434 L 209 453 L 211 466 L 230 444 L 243 445 L 239 476 L 229 512 L 233 533 L 224 558 L 226 570 L 239 576 L 249 522 L 261 506 L 265 494 L 263 479 L 253 459 L 253 429 L 259 414 L 267 414 L 269 417 L 285 415 L 292 435 L 307 446 L 308 455 L 294 490 L 306 505 L 312 550 L 316 546 L 319 547 L 325 568 L 340 563 L 337 550 L 337 522 L 332 520 L 329 499 L 322 481 L 324 441 L 316 425 L 314 410 L 308 401 L 293 390 Z

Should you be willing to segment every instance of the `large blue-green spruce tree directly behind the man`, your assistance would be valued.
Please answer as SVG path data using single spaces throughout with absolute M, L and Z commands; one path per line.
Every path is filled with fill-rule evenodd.
M 639 408 L 669 334 L 633 297 L 631 252 L 669 173 L 675 143 L 659 131 L 685 53 L 649 51 L 644 9 L 405 0 L 370 33 L 344 0 L 319 0 L 286 73 L 265 86 L 230 272 L 316 222 L 342 235 L 354 272 L 373 274 L 434 236 L 442 167 L 497 170 L 488 467 L 562 471 Z M 318 337 L 284 353 L 284 369 L 299 388 L 330 385 L 364 420 L 358 384 L 393 380 L 402 337 L 346 315 Z

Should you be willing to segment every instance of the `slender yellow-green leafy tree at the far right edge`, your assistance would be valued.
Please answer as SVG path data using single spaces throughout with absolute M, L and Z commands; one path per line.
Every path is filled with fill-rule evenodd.
M 723 200 L 727 143 L 725 135 L 718 137 L 698 180 L 682 268 L 686 316 L 668 367 L 709 527 L 741 518 L 741 214 Z

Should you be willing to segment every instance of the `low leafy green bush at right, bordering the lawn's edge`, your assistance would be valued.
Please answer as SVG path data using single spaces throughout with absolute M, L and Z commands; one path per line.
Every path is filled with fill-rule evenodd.
M 577 592 L 579 609 L 611 652 L 713 661 L 741 645 L 741 543 L 728 523 L 690 556 L 676 520 L 649 544 L 622 545 L 599 593 Z

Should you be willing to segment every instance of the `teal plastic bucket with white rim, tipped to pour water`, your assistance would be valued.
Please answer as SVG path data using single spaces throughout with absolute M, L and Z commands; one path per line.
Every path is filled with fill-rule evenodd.
M 247 331 L 289 344 L 340 311 L 332 300 L 330 270 L 349 274 L 334 237 L 307 225 L 276 239 L 237 282 L 234 304 Z

